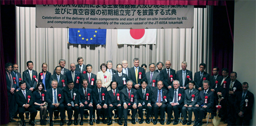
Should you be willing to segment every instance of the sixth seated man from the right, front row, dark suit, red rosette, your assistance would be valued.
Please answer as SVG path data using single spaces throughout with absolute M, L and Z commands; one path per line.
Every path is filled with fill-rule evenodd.
M 145 71 L 145 69 L 143 69 Z M 137 113 L 137 91 L 132 88 L 133 82 L 128 81 L 126 84 L 127 88 L 121 90 L 121 101 L 123 104 L 123 117 L 124 117 L 124 126 L 127 126 L 127 114 L 128 109 L 132 110 L 132 124 L 135 124 L 135 115 Z

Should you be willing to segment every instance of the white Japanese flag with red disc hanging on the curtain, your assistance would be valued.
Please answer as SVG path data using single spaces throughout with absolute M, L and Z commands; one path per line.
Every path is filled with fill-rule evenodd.
M 118 44 L 155 44 L 156 29 L 118 29 Z

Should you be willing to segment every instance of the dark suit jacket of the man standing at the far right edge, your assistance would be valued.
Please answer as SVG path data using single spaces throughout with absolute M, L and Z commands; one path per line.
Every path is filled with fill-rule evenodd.
M 250 91 L 247 91 L 244 100 L 246 100 L 246 99 L 248 100 L 248 103 L 247 103 L 248 106 L 246 107 L 246 102 L 244 101 L 243 110 L 241 110 L 241 108 L 240 108 L 242 96 L 243 96 L 243 91 L 240 91 L 236 95 L 236 101 L 235 101 L 236 113 L 238 114 L 240 111 L 242 111 L 244 118 L 246 118 L 247 120 L 251 120 L 252 119 L 252 107 L 253 107 L 253 103 L 254 103 L 254 95 Z

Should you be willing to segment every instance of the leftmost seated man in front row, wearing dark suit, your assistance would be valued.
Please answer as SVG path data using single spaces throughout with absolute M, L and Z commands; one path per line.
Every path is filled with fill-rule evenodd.
M 26 111 L 30 112 L 30 120 L 29 124 L 34 126 L 34 119 L 37 114 L 36 109 L 34 108 L 34 98 L 33 94 L 30 90 L 26 89 L 26 82 L 20 81 L 20 90 L 16 92 L 15 98 L 18 104 L 18 111 L 20 120 L 22 121 L 22 126 L 26 126 L 26 122 L 24 120 L 24 113 Z

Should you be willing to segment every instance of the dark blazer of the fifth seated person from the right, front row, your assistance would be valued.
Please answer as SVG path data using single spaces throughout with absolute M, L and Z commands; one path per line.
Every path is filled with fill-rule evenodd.
M 148 94 L 148 100 L 146 100 L 147 98 L 147 95 Z M 143 98 L 143 89 L 140 88 L 137 90 L 137 96 L 138 96 L 138 104 L 145 102 L 145 105 L 150 103 L 151 104 L 151 101 L 152 101 L 152 98 L 153 98 L 153 92 L 150 90 L 150 88 L 146 88 L 146 92 L 145 92 L 145 97 Z

